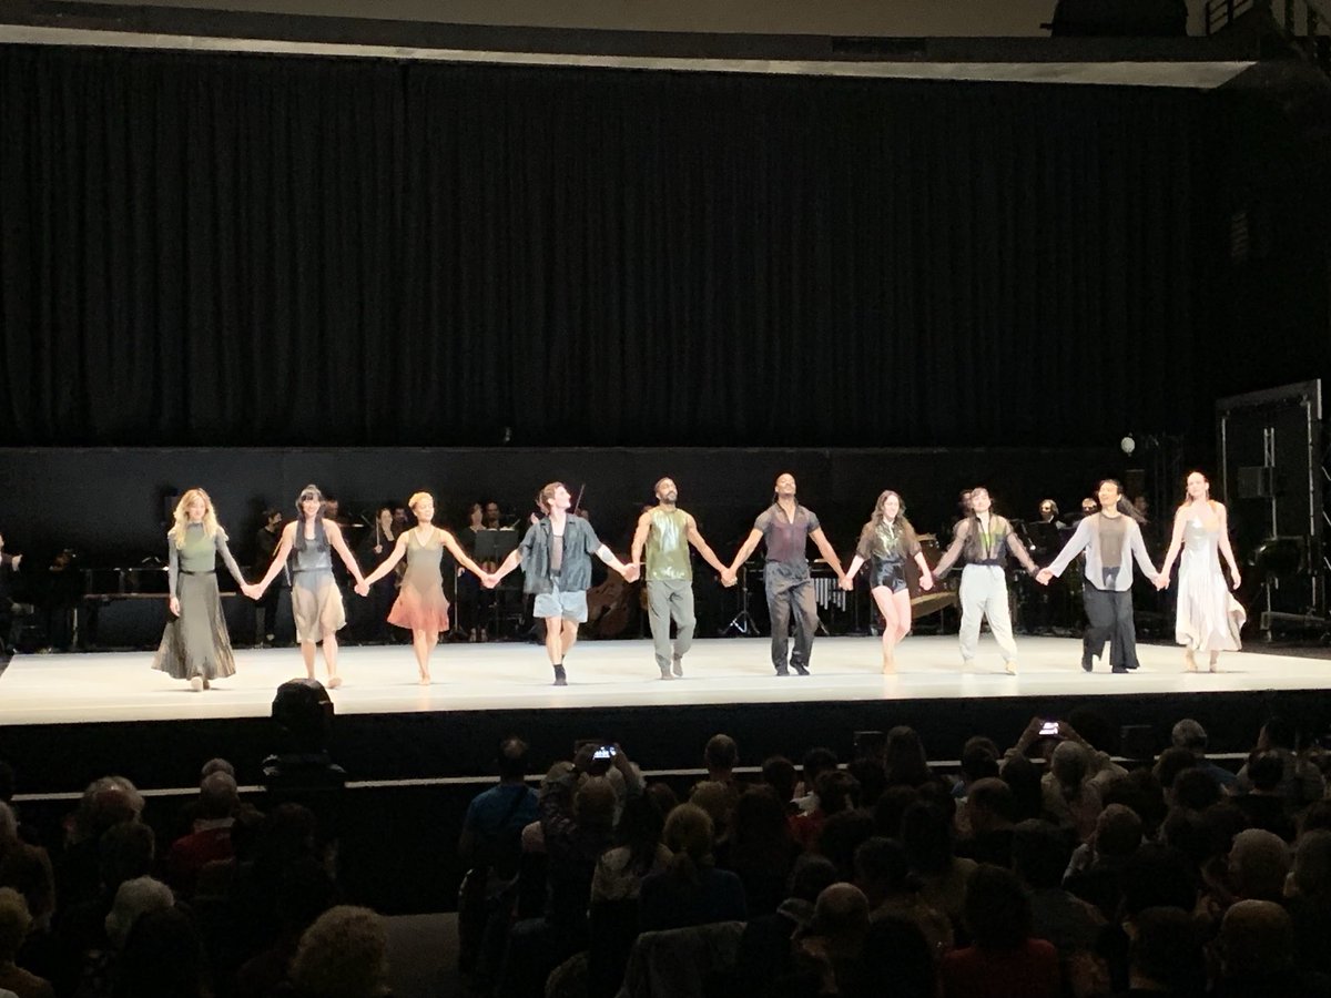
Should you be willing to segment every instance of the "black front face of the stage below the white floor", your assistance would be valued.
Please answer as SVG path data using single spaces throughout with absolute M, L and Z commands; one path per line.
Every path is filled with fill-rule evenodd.
M 792 692 L 800 677 L 785 680 Z M 1195 717 L 1211 750 L 1246 752 L 1262 720 L 1290 717 L 1303 731 L 1327 724 L 1319 689 L 1254 693 L 1131 693 L 1099 696 L 942 697 L 928 700 L 809 701 L 696 707 L 514 709 L 337 716 L 331 753 L 351 781 L 438 780 L 494 773 L 499 739 L 520 735 L 532 749 L 534 773 L 568 758 L 580 739 L 620 741 L 646 770 L 697 769 L 707 739 L 717 732 L 740 744 L 744 765 L 772 754 L 795 761 L 815 745 L 851 757 L 853 732 L 916 728 L 930 758 L 956 760 L 972 735 L 1000 747 L 1013 744 L 1032 716 L 1066 717 L 1090 707 L 1115 729 L 1150 725 L 1157 750 L 1169 729 Z M 0 758 L 23 774 L 24 793 L 81 790 L 106 773 L 121 773 L 142 789 L 194 786 L 200 765 L 230 758 L 241 784 L 260 782 L 262 758 L 280 747 L 268 719 L 11 725 L 0 731 Z

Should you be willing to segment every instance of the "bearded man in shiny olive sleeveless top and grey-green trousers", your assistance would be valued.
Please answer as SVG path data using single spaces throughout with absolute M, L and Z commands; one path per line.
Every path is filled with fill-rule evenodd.
M 697 532 L 697 523 L 675 503 L 679 488 L 663 478 L 656 483 L 656 506 L 638 518 L 630 562 L 638 564 L 647 551 L 643 578 L 647 580 L 647 619 L 652 625 L 652 644 L 656 645 L 656 664 L 662 679 L 684 675 L 680 660 L 693 641 L 693 566 L 688 546 L 717 572 L 725 566 Z M 675 645 L 671 648 L 669 621 L 675 620 Z

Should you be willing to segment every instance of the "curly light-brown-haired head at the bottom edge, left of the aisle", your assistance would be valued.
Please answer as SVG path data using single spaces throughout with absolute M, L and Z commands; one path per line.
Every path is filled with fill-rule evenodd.
M 302 998 L 375 998 L 389 993 L 389 935 L 367 908 L 338 905 L 301 935 L 290 978 Z

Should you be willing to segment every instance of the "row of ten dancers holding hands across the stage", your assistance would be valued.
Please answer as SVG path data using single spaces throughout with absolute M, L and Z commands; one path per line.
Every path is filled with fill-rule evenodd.
M 843 571 L 817 515 L 799 502 L 795 476 L 784 472 L 776 479 L 772 504 L 753 522 L 729 564 L 724 564 L 707 544 L 696 520 L 679 508 L 675 482 L 663 478 L 655 486 L 656 506 L 638 520 L 627 563 L 600 542 L 591 523 L 570 514 L 571 494 L 563 483 L 551 482 L 538 496 L 544 515 L 528 527 L 518 548 L 494 572 L 486 572 L 449 531 L 434 526 L 434 498 L 429 492 L 417 492 L 409 503 L 417 526 L 401 534 L 393 554 L 363 576 L 338 524 L 325 519 L 322 494 L 315 486 L 307 486 L 297 499 L 299 516 L 282 528 L 273 562 L 254 584 L 241 576 L 208 494 L 192 488 L 181 496 L 168 535 L 173 620 L 162 636 L 154 668 L 189 680 L 194 689 L 205 689 L 213 680 L 233 675 L 234 660 L 214 575 L 216 556 L 222 558 L 241 591 L 257 600 L 294 555 L 290 568 L 291 609 L 306 672 L 314 677 L 315 649 L 322 644 L 329 687 L 337 688 L 341 685 L 337 631 L 345 625 L 346 613 L 333 578 L 331 552 L 335 551 L 346 563 L 361 596 L 406 559 L 407 570 L 387 619 L 413 632 L 419 680 L 427 684 L 430 653 L 439 633 L 449 628 L 449 601 L 443 595 L 441 572 L 442 552 L 447 550 L 487 588 L 494 588 L 506 575 L 522 567 L 524 589 L 535 597 L 534 615 L 544 620 L 546 652 L 555 685 L 567 684 L 567 657 L 578 640 L 578 624 L 587 620 L 591 558 L 600 559 L 627 582 L 635 582 L 643 574 L 656 664 L 662 679 L 677 679 L 684 675 L 683 657 L 695 629 L 689 546 L 716 570 L 723 584 L 735 585 L 740 567 L 763 544 L 763 580 L 772 621 L 772 665 L 779 676 L 792 671 L 808 675 L 817 628 L 807 556 L 808 542 L 812 540 L 844 589 L 853 588 L 860 568 L 869 566 L 869 589 L 885 621 L 885 673 L 896 671 L 897 644 L 910 631 L 908 562 L 918 568 L 922 589 L 932 588 L 936 578 L 965 562 L 960 588 L 962 665 L 973 668 L 980 624 L 988 619 L 1004 657 L 1004 668 L 1016 675 L 1017 647 L 1008 603 L 1006 559 L 1016 558 L 1037 582 L 1047 585 L 1083 554 L 1083 600 L 1090 623 L 1083 637 L 1082 668 L 1091 671 L 1093 660 L 1110 643 L 1113 672 L 1127 672 L 1137 668 L 1130 595 L 1133 563 L 1135 560 L 1146 576 L 1163 588 L 1181 552 L 1175 633 L 1185 645 L 1187 668 L 1195 669 L 1195 652 L 1206 651 L 1214 671 L 1221 651 L 1239 647 L 1238 632 L 1243 623 L 1243 611 L 1230 596 L 1218 556 L 1227 560 L 1234 588 L 1239 584 L 1239 571 L 1229 543 L 1225 507 L 1210 499 L 1206 478 L 1193 472 L 1186 488 L 1187 500 L 1175 515 L 1173 543 L 1161 571 L 1155 570 L 1146 552 L 1138 514 L 1113 479 L 1099 483 L 1099 511 L 1078 523 L 1047 568 L 1034 564 L 1012 524 L 993 512 L 988 490 L 977 487 L 970 490 L 968 516 L 956 526 L 950 546 L 933 570 L 925 562 L 914 528 L 905 516 L 901 496 L 885 490 L 860 532 L 855 556 Z M 676 627 L 673 641 L 669 635 L 672 621 Z

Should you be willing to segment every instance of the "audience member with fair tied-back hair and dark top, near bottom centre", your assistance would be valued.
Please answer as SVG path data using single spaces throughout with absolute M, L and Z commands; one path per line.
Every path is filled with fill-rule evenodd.
M 666 818 L 669 865 L 643 880 L 638 925 L 642 931 L 743 921 L 748 917 L 744 886 L 712 860 L 712 820 L 692 804 L 680 804 Z

